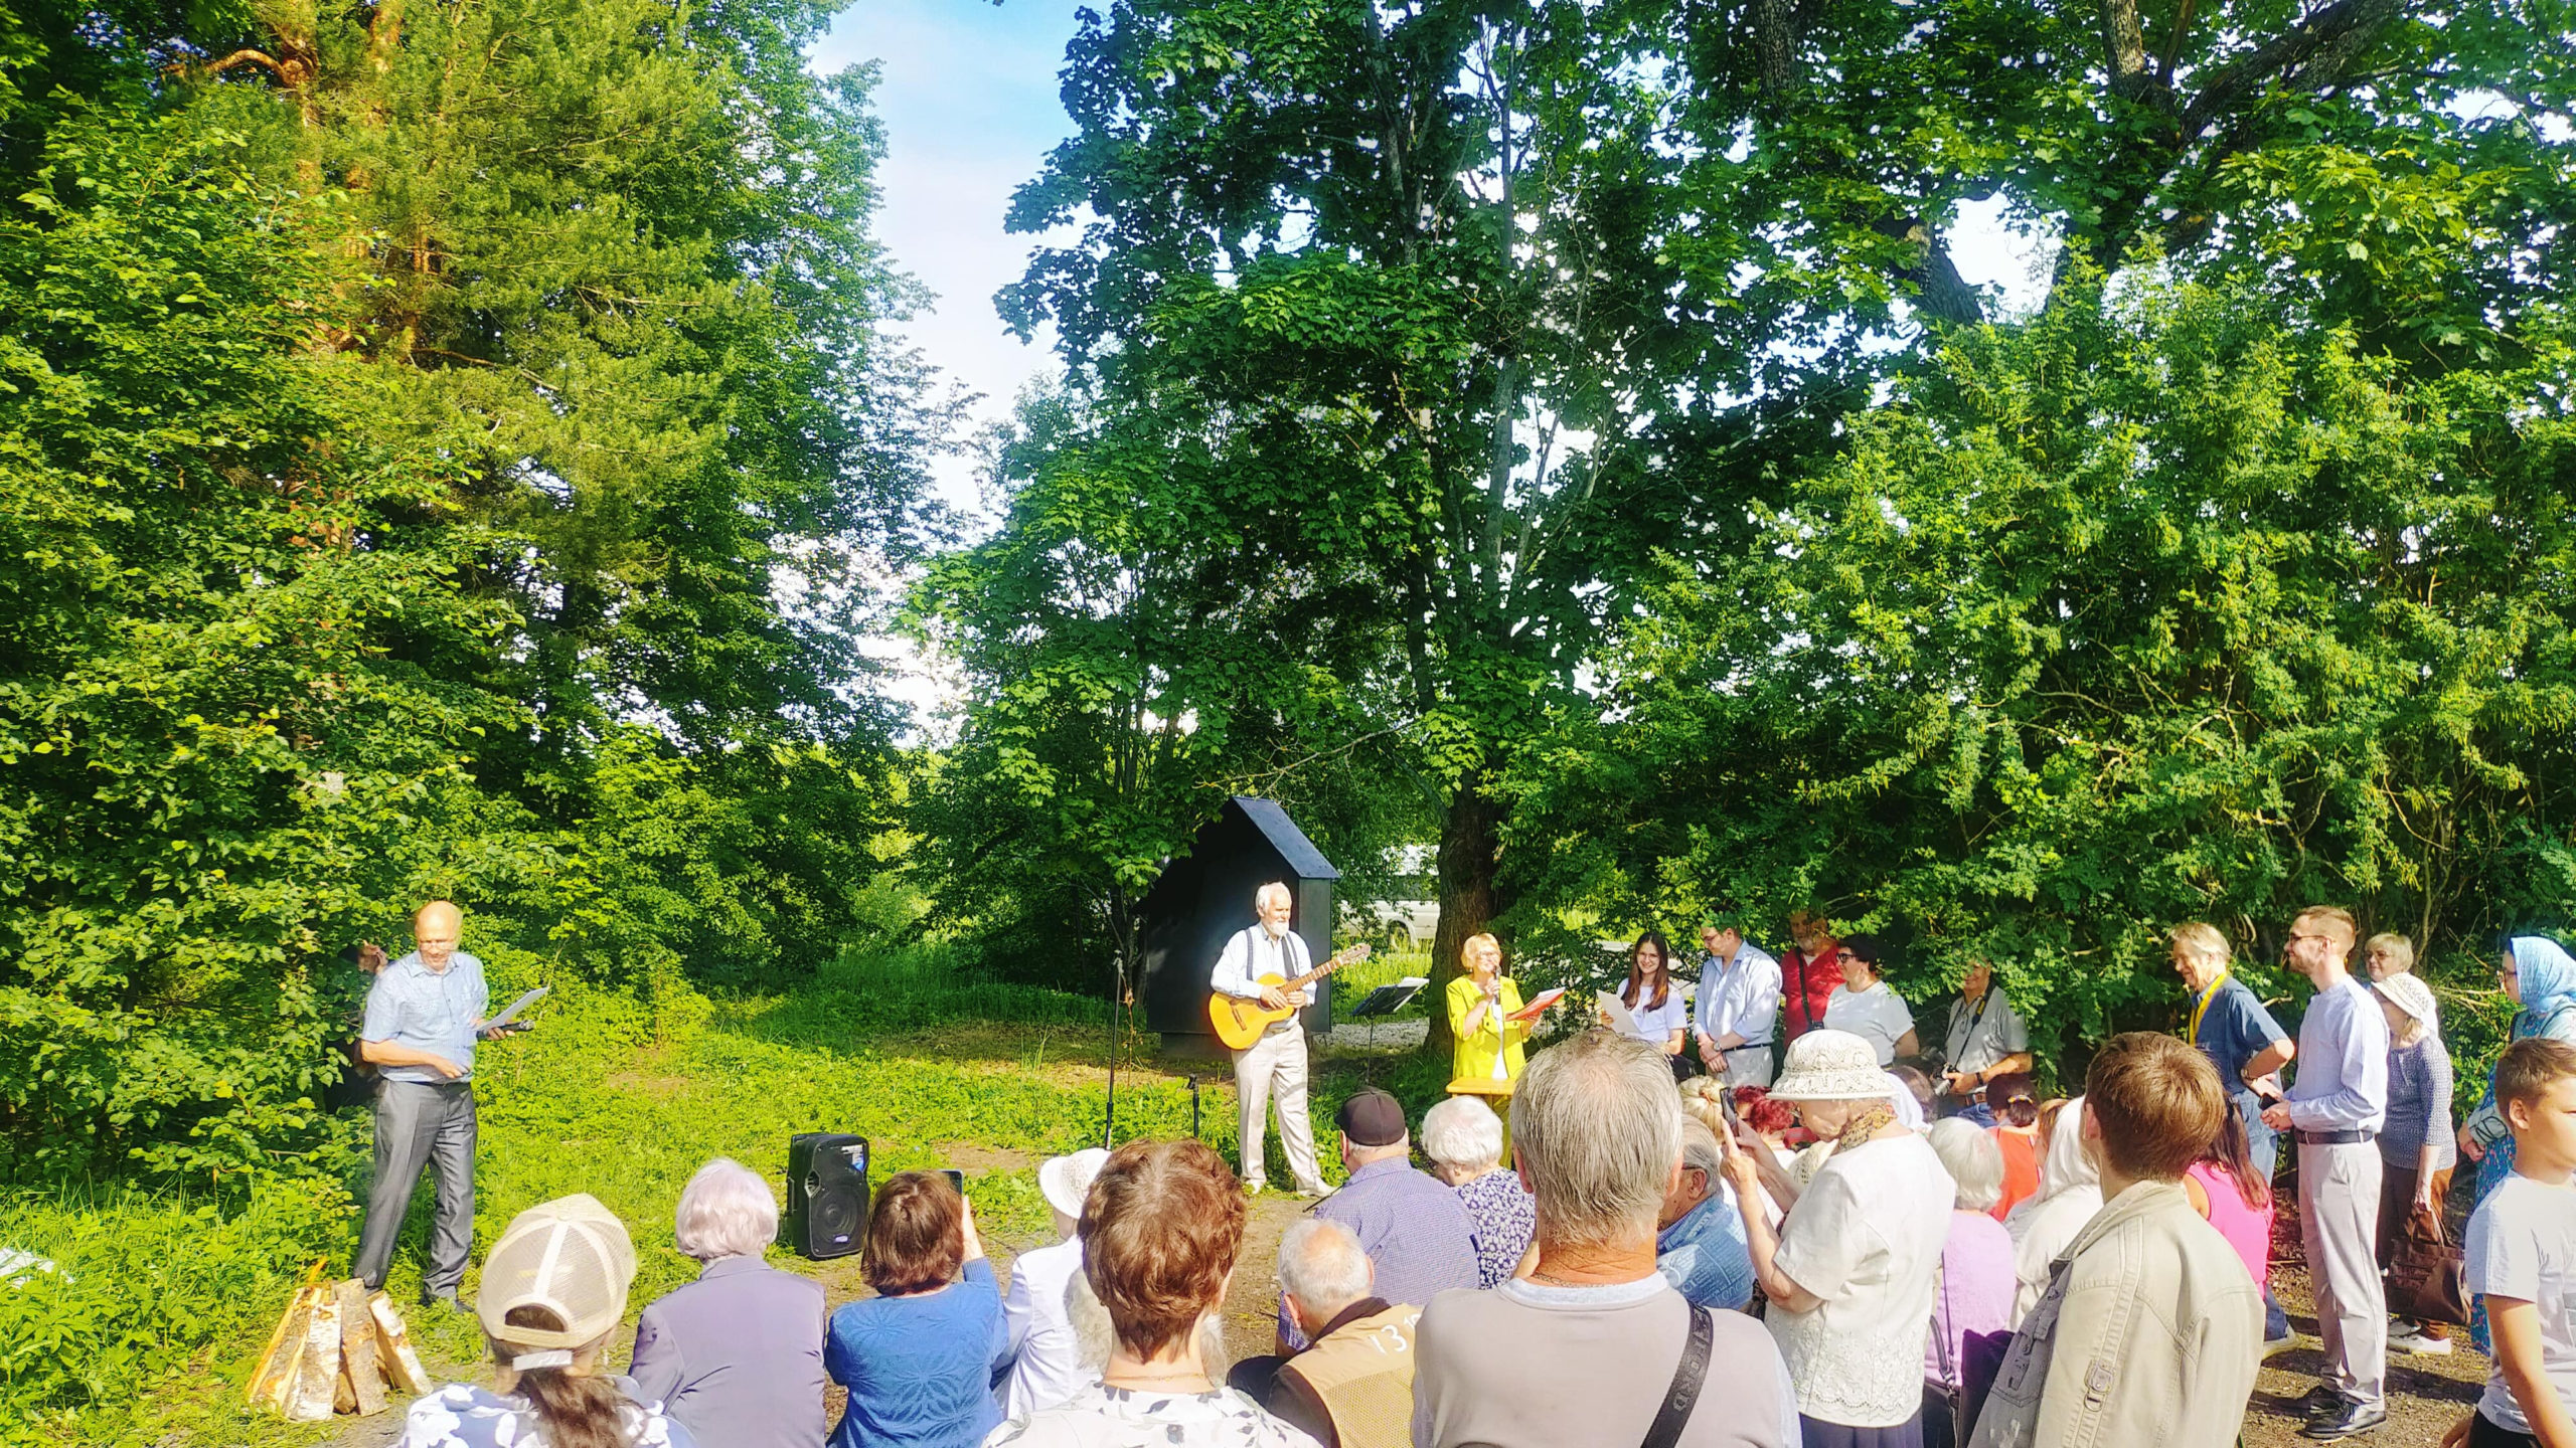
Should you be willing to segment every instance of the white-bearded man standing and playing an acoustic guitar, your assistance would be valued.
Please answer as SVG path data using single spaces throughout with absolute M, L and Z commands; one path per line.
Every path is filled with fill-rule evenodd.
M 1309 969 L 1306 940 L 1288 930 L 1288 886 L 1270 881 L 1252 891 L 1257 922 L 1236 930 L 1216 956 L 1208 984 L 1216 1000 L 1208 1018 L 1234 1049 L 1234 1095 L 1242 1103 L 1244 1190 L 1262 1190 L 1262 1129 L 1270 1098 L 1280 1103 L 1280 1147 L 1298 1196 L 1324 1196 L 1324 1175 L 1314 1165 L 1314 1123 L 1306 1118 L 1306 1028 L 1296 1013 L 1314 1002 L 1309 982 L 1350 961 L 1334 956 L 1324 969 Z M 1358 946 L 1352 958 L 1365 956 Z M 1260 1025 L 1257 1038 L 1239 1028 Z

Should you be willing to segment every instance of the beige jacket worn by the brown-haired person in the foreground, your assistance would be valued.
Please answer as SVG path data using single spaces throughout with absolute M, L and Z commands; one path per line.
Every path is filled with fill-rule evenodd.
M 2182 1183 L 2084 1224 L 2012 1337 L 1971 1448 L 2223 1448 L 2262 1350 L 2262 1291 Z

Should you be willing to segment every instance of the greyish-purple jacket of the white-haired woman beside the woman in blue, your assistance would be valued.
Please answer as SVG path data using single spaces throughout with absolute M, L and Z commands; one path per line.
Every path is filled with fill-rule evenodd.
M 822 1283 L 719 1257 L 636 1322 L 636 1396 L 698 1443 L 822 1448 Z

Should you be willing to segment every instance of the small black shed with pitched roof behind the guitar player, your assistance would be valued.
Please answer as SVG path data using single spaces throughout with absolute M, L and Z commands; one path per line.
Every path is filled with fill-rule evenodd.
M 1206 1051 L 1208 971 L 1226 938 L 1252 925 L 1252 891 L 1288 886 L 1288 928 L 1306 938 L 1316 964 L 1332 956 L 1332 881 L 1342 871 L 1314 848 L 1275 801 L 1236 794 L 1198 830 L 1144 897 L 1144 1020 L 1167 1049 Z M 1306 1007 L 1309 1033 L 1332 1031 L 1332 979 L 1316 982 Z

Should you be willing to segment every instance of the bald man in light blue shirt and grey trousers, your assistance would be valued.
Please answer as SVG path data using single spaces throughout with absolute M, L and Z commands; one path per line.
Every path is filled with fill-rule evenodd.
M 420 1275 L 422 1306 L 456 1306 L 456 1283 L 474 1255 L 474 1041 L 489 1036 L 489 992 L 482 961 L 456 948 L 464 915 L 433 899 L 412 912 L 412 953 L 376 971 L 366 992 L 358 1056 L 376 1082 L 376 1180 L 366 1193 L 366 1232 L 355 1275 L 384 1286 L 394 1265 L 402 1214 L 412 1206 L 420 1167 L 438 1180 L 430 1265 Z

